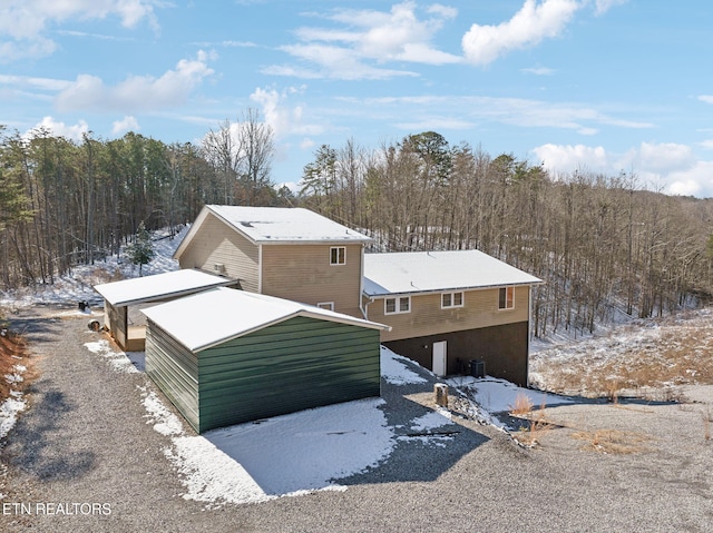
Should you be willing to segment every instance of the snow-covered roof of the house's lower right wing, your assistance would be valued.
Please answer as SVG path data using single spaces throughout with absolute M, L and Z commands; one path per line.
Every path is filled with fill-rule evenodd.
M 540 283 L 479 250 L 364 254 L 364 293 L 369 296 Z

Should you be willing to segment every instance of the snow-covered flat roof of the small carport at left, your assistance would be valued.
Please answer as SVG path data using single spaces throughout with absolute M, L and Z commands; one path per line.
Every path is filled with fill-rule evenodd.
M 120 282 L 95 285 L 104 299 L 114 306 L 152 302 L 157 298 L 182 296 L 221 285 L 232 285 L 227 279 L 193 269 L 174 270 L 154 276 L 144 276 Z

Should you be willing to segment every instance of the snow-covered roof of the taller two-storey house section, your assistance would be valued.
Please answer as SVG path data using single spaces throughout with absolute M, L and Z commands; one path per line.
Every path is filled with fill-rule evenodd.
M 302 208 L 206 206 L 254 243 L 368 243 L 371 238 Z

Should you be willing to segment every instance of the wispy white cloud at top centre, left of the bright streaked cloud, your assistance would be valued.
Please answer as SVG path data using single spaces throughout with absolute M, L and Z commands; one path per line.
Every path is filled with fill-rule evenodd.
M 345 28 L 301 28 L 299 43 L 282 47 L 291 56 L 302 59 L 314 69 L 270 67 L 271 73 L 336 79 L 387 79 L 414 76 L 413 72 L 372 66 L 389 61 L 445 65 L 460 58 L 433 47 L 432 40 L 443 23 L 456 17 L 457 10 L 440 4 L 427 9 L 430 16 L 417 17 L 412 1 L 394 4 L 389 12 L 339 9 L 325 17 Z

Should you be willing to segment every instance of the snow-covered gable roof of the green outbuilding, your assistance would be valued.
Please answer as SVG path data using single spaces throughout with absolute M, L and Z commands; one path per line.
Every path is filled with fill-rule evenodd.
M 143 313 L 192 352 L 201 352 L 295 316 L 390 329 L 383 324 L 311 305 L 225 287 L 149 307 Z

